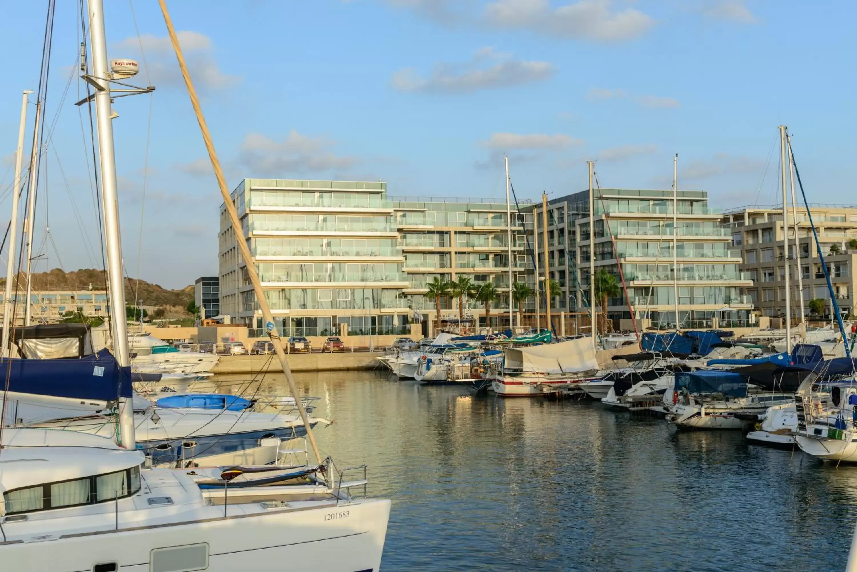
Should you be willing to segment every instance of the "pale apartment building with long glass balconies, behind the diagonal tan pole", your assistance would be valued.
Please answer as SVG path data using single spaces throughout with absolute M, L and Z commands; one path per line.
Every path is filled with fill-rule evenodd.
M 428 333 L 434 302 L 423 297 L 434 276 L 472 276 L 505 292 L 492 304 L 492 325 L 508 317 L 506 203 L 395 200 L 387 184 L 245 179 L 232 192 L 262 287 L 286 335 Z M 513 280 L 523 279 L 523 223 L 512 226 Z M 220 313 L 261 328 L 261 315 L 235 234 L 221 206 Z M 453 313 L 451 300 L 443 309 Z M 468 310 L 484 323 L 478 304 Z M 442 312 L 443 313 L 443 312 Z M 457 314 L 457 312 L 454 312 Z

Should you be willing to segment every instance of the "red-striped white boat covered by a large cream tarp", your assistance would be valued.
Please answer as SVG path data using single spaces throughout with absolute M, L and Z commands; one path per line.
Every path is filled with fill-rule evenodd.
M 491 383 L 494 393 L 501 397 L 531 397 L 557 391 L 583 394 L 579 383 L 599 379 L 591 338 L 508 347 L 504 352 L 503 367 Z

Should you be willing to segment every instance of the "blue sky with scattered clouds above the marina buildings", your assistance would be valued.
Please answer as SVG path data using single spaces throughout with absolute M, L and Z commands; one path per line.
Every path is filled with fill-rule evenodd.
M 126 272 L 187 286 L 218 271 L 219 189 L 158 3 L 105 3 L 109 56 L 136 58 L 131 82 L 156 87 L 113 105 Z M 57 2 L 54 21 L 36 271 L 102 264 L 75 4 Z M 857 3 L 167 4 L 231 189 L 383 180 L 390 196 L 505 200 L 507 154 L 518 198 L 538 200 L 583 190 L 586 160 L 602 187 L 669 189 L 679 154 L 679 188 L 711 206 L 774 204 L 786 124 L 809 201 L 857 203 Z M 0 213 L 46 9 L 10 4 L 0 21 Z

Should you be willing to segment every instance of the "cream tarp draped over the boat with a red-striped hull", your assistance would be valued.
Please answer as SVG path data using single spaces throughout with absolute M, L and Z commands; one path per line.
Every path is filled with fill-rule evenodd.
M 527 372 L 569 373 L 596 370 L 598 360 L 592 339 L 580 338 L 558 344 L 510 347 L 506 350 L 506 367 Z

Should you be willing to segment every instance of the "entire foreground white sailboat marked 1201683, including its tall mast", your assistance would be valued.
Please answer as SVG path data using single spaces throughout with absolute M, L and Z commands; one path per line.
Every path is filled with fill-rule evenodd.
M 196 107 L 164 0 L 160 6 Z M 111 309 L 122 312 L 122 248 L 111 125 L 113 75 L 107 63 L 103 0 L 89 0 L 87 14 L 81 19 L 89 23 L 92 46 L 93 73 L 86 79 L 96 87 Z M 263 310 L 270 315 L 267 304 Z M 111 370 L 99 364 L 88 377 L 81 376 L 81 383 L 66 385 L 60 376 L 45 376 L 43 382 L 59 386 L 68 400 L 78 397 L 75 393 L 82 388 L 102 392 L 112 388 L 119 443 L 79 431 L 3 429 L 0 562 L 4 569 L 115 572 L 133 567 L 231 572 L 242 567 L 281 569 L 284 563 L 307 568 L 321 565 L 334 572 L 379 568 L 390 502 L 351 497 L 347 491 L 365 485 L 365 479 L 343 482 L 340 476 L 335 482 L 335 473 L 341 475 L 344 470 L 338 471 L 329 458 L 321 460 L 299 401 L 297 407 L 319 463 L 285 485 L 251 484 L 230 491 L 232 481 L 266 470 L 280 472 L 280 467 L 224 467 L 219 474 L 203 475 L 202 480 L 213 480 L 214 487 L 203 486 L 195 471 L 145 467 L 144 455 L 135 443 L 125 321 L 115 319 L 111 326 L 116 351 Z M 280 354 L 279 338 L 274 343 Z M 10 368 L 12 360 L 5 364 Z M 285 369 L 297 399 L 291 372 L 287 366 Z M 15 374 L 7 373 L 8 380 Z

